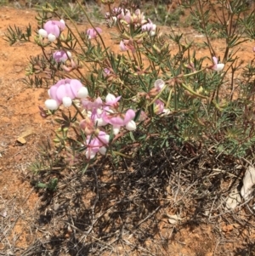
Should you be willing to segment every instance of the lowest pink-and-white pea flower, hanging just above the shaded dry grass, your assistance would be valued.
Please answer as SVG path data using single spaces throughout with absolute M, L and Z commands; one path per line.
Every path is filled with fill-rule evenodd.
M 99 131 L 99 134 L 96 135 L 94 139 L 90 135 L 87 137 L 87 150 L 85 151 L 85 156 L 87 159 L 93 159 L 94 156 L 99 152 L 102 155 L 105 155 L 107 151 L 107 145 L 110 140 L 110 135 L 106 134 L 103 131 Z

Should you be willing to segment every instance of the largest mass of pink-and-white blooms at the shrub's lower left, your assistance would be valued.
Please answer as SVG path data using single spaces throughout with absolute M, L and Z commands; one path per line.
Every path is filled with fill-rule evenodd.
M 118 134 L 122 127 L 129 131 L 136 129 L 136 123 L 133 121 L 135 111 L 119 110 L 121 96 L 107 94 L 105 103 L 100 97 L 93 100 L 88 96 L 88 88 L 77 79 L 69 78 L 54 84 L 48 90 L 48 95 L 51 99 L 45 101 L 45 106 L 50 111 L 57 110 L 61 104 L 70 107 L 74 99 L 81 100 L 84 118 L 80 122 L 80 128 L 87 135 L 84 145 L 87 147 L 85 156 L 88 159 L 94 158 L 98 152 L 105 155 L 107 151 L 110 135 L 106 134 L 105 130 L 100 130 L 101 127 L 111 125 L 113 134 Z

